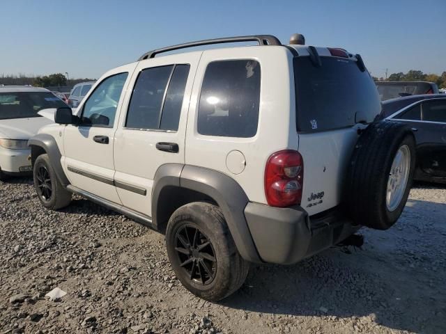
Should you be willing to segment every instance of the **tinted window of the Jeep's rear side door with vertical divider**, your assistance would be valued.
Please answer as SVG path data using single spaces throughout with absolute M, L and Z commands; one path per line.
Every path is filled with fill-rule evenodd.
M 141 71 L 134 84 L 125 127 L 178 130 L 189 68 L 190 65 L 169 65 Z

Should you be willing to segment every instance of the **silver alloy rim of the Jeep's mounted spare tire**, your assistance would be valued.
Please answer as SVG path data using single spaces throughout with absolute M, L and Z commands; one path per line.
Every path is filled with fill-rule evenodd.
M 387 181 L 385 202 L 387 209 L 392 212 L 397 209 L 406 191 L 410 170 L 410 150 L 408 145 L 402 145 L 395 154 Z

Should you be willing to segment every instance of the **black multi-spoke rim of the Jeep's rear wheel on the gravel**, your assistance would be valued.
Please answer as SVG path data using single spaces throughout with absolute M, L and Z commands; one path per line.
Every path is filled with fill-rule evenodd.
M 187 277 L 199 285 L 215 278 L 217 260 L 208 237 L 194 225 L 184 225 L 176 232 L 175 250 Z

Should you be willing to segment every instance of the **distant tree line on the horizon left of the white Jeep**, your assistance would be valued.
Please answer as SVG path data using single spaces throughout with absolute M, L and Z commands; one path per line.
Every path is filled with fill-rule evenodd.
M 62 73 L 54 73 L 44 76 L 34 76 L 26 74 L 0 76 L 0 85 L 31 85 L 35 87 L 72 87 L 83 81 L 95 81 L 95 79 L 70 79 L 68 80 Z

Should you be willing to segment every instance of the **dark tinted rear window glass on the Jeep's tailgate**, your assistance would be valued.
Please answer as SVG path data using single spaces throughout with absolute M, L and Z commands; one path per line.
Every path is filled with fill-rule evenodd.
M 378 91 L 369 72 L 355 61 L 321 57 L 294 58 L 296 120 L 299 132 L 319 132 L 373 122 L 380 114 Z

